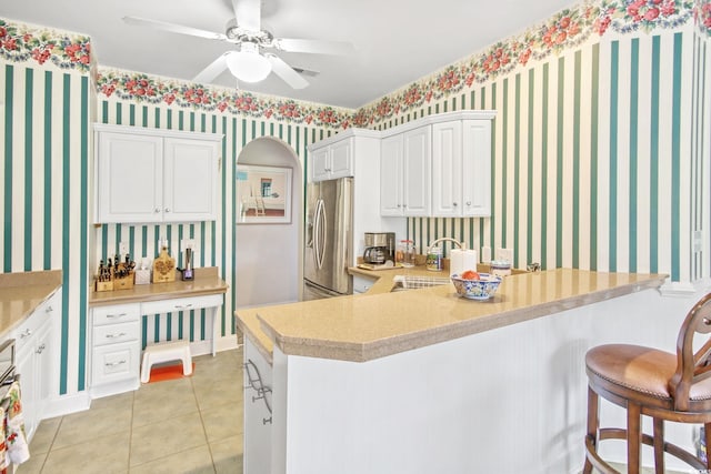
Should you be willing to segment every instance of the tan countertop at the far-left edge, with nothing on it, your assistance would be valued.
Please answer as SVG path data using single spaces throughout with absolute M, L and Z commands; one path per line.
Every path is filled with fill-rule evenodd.
M 61 284 L 61 270 L 0 273 L 0 335 L 20 325 Z

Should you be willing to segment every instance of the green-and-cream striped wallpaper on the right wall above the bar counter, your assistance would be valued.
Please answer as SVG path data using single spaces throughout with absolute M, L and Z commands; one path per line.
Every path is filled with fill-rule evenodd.
M 498 111 L 491 219 L 411 218 L 409 238 L 510 248 L 518 268 L 708 278 L 691 242 L 709 228 L 708 57 L 693 28 L 609 34 L 378 124 Z

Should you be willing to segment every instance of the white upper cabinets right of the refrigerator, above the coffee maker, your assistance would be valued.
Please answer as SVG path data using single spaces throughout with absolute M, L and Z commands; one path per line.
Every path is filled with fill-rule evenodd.
M 380 214 L 490 216 L 494 115 L 494 111 L 451 112 L 385 131 Z

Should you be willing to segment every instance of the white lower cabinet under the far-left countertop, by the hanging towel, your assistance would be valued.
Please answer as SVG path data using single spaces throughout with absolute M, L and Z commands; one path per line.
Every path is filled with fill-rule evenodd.
M 44 417 L 57 376 L 59 353 L 54 320 L 61 314 L 61 290 L 42 303 L 12 333 L 16 341 L 16 372 L 20 374 L 22 415 L 28 440 Z

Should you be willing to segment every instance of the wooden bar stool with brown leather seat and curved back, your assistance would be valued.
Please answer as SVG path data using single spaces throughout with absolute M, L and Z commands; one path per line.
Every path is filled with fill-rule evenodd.
M 640 472 L 642 443 L 654 448 L 654 472 L 664 472 L 664 452 L 698 470 L 711 470 L 694 454 L 664 442 L 664 421 L 705 426 L 711 446 L 711 293 L 689 311 L 677 340 L 677 354 L 627 344 L 607 344 L 585 354 L 588 434 L 583 474 L 595 467 L 618 473 L 598 454 L 602 440 L 627 440 L 628 473 Z M 703 334 L 695 337 L 694 335 Z M 694 346 L 698 347 L 694 351 Z M 599 397 L 627 409 L 627 430 L 599 428 Z M 651 416 L 653 435 L 643 434 L 642 415 Z M 711 453 L 710 453 L 711 454 Z

